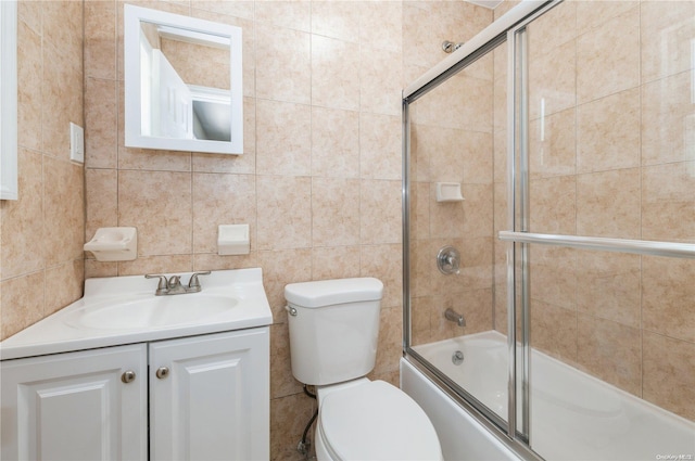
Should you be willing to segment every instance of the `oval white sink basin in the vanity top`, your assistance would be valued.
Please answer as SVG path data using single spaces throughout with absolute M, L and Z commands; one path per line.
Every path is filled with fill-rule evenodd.
M 73 310 L 64 321 L 89 329 L 156 329 L 213 320 L 238 304 L 236 297 L 205 293 L 122 298 Z

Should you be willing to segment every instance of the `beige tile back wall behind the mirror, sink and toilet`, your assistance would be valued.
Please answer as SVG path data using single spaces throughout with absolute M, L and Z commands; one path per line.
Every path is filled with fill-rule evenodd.
M 271 458 L 296 459 L 314 402 L 291 374 L 287 283 L 381 279 L 386 292 L 372 377 L 397 383 L 401 89 L 412 54 L 403 43 L 412 37 L 404 34 L 404 14 L 414 7 L 400 1 L 137 2 L 242 28 L 244 153 L 230 156 L 124 146 L 123 4 L 85 3 L 84 238 L 103 226 L 135 226 L 138 259 L 102 264 L 87 255 L 86 277 L 261 267 L 275 321 Z M 453 8 L 453 2 L 417 5 L 430 16 L 429 27 L 447 17 L 447 34 L 454 33 L 452 13 L 465 23 L 465 13 L 478 10 Z M 467 27 L 470 36 L 477 26 Z M 422 55 L 435 56 L 425 65 L 442 57 L 443 38 L 420 39 L 410 46 L 427 47 Z M 222 223 L 250 225 L 248 256 L 216 254 Z

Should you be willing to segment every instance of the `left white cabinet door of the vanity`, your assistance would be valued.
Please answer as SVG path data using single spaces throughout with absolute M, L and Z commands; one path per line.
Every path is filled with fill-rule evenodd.
M 147 347 L 5 360 L 3 460 L 147 460 Z M 135 380 L 122 381 L 135 372 Z

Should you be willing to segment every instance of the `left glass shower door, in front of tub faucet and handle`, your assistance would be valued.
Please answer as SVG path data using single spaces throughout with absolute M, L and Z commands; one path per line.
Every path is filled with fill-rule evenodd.
M 504 44 L 471 59 L 408 104 L 406 125 L 409 345 L 500 425 L 507 418 L 508 360 L 506 319 L 497 329 L 495 318 L 505 254 L 494 238 L 494 206 L 505 204 L 496 193 L 506 190 L 498 145 L 505 142 L 506 65 Z M 438 255 L 451 251 L 443 248 L 458 256 L 442 256 L 438 267 Z

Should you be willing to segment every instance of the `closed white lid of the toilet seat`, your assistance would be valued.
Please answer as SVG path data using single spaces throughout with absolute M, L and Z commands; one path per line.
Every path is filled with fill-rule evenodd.
M 319 421 L 327 448 L 342 460 L 442 459 L 425 411 L 383 381 L 328 394 Z

